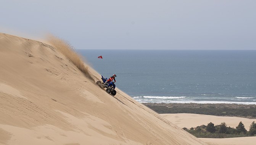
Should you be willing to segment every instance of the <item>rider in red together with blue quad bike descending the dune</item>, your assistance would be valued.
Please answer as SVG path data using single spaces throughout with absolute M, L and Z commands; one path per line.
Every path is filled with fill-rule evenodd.
M 103 81 L 103 83 L 101 81 L 97 81 L 96 84 L 101 88 L 107 88 L 106 92 L 111 93 L 114 96 L 116 95 L 116 90 L 115 90 L 116 85 L 114 84 L 116 82 L 115 77 L 116 77 L 116 74 L 113 74 L 113 76 L 111 76 L 109 79 L 101 75 L 101 80 Z

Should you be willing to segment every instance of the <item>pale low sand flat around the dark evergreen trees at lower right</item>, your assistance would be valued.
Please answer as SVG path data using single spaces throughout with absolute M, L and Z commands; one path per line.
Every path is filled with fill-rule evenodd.
M 249 130 L 249 126 L 256 119 L 248 119 L 241 117 L 219 117 L 213 115 L 201 115 L 190 113 L 177 113 L 177 114 L 160 114 L 162 117 L 171 121 L 180 128 L 191 128 L 200 125 L 207 125 L 209 122 L 219 125 L 225 122 L 227 126 L 235 128 L 240 121 L 243 122 L 245 128 Z M 236 137 L 226 139 L 208 139 L 200 138 L 209 145 L 255 145 L 256 137 Z

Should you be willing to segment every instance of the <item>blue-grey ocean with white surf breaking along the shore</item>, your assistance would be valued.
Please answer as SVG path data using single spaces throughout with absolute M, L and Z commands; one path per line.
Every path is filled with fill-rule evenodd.
M 256 104 L 256 50 L 76 51 L 139 102 Z

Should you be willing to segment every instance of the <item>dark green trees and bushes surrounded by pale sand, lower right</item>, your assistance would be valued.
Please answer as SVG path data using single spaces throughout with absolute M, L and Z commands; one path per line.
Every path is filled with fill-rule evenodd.
M 250 125 L 250 130 L 246 131 L 242 121 L 236 128 L 227 127 L 225 122 L 214 126 L 212 122 L 208 125 L 197 126 L 196 128 L 183 128 L 195 137 L 199 138 L 229 138 L 229 137 L 248 137 L 256 136 L 256 123 L 253 121 Z

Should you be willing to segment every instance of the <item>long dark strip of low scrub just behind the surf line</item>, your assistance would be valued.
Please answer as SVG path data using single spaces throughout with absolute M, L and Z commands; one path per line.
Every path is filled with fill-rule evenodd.
M 143 103 L 157 113 L 195 113 L 215 116 L 256 118 L 256 105 Z

